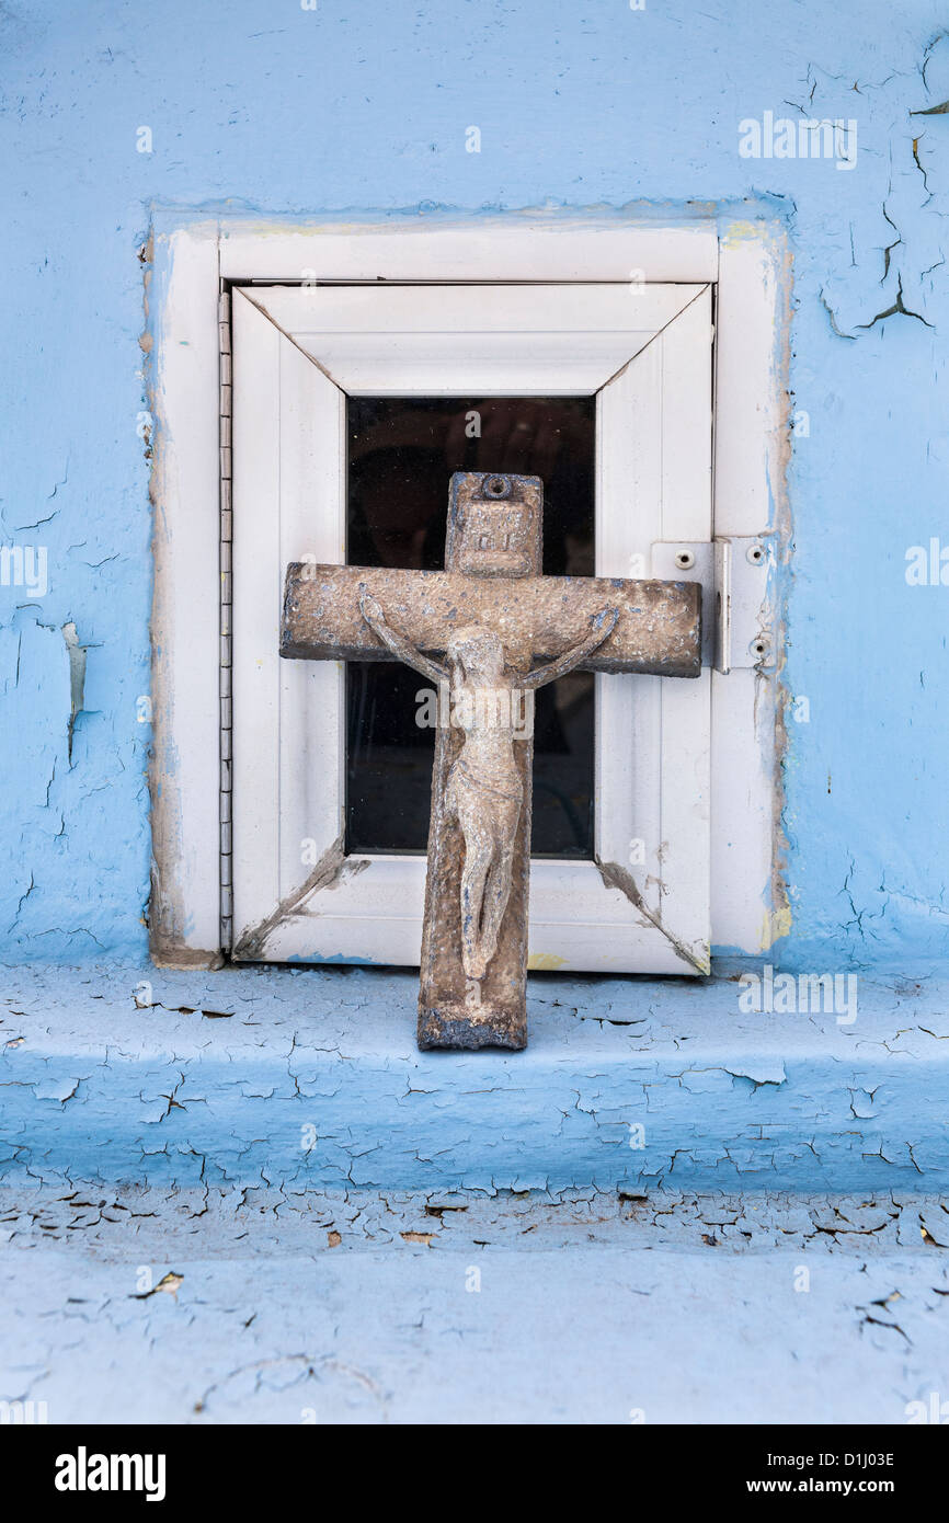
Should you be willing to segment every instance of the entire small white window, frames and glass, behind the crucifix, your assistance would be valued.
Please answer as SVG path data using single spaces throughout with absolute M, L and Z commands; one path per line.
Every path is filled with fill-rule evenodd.
M 197 332 L 195 292 L 210 270 L 200 270 L 200 238 L 174 236 L 178 291 L 169 292 L 163 346 L 171 437 L 157 472 L 171 528 L 158 545 L 158 615 L 172 576 L 189 580 L 195 595 L 198 583 L 209 585 L 204 568 L 184 559 L 193 525 L 175 538 L 174 524 L 186 516 L 181 466 L 197 484 L 201 448 L 187 437 L 195 425 L 183 379 L 174 378 L 183 359 L 172 332 L 190 347 L 184 330 Z M 524 474 L 556 477 L 551 535 L 577 574 L 695 577 L 708 594 L 698 679 L 597 676 L 586 679 L 590 693 L 556 698 L 551 723 L 561 737 L 570 731 L 570 745 L 567 762 L 558 762 L 556 746 L 539 758 L 550 772 L 535 797 L 530 966 L 699 973 L 713 943 L 760 950 L 772 906 L 775 641 L 765 509 L 774 291 L 763 241 L 737 247 L 734 263 L 743 268 L 734 274 L 722 270 L 722 253 L 707 228 L 498 230 L 494 239 L 483 233 L 475 250 L 455 230 L 402 235 L 401 244 L 372 233 L 291 235 L 276 248 L 253 235 L 221 242 L 230 270 L 216 312 L 221 763 L 215 777 L 216 758 L 201 765 L 187 733 L 187 705 L 207 685 L 184 675 L 181 658 L 177 672 L 169 661 L 157 766 L 171 760 L 165 740 L 169 748 L 174 740 L 186 775 L 160 777 L 168 792 L 157 807 L 158 955 L 216 950 L 207 944 L 207 822 L 200 860 L 184 836 L 203 793 L 204 809 L 221 819 L 213 854 L 224 952 L 417 964 L 427 752 L 411 726 L 420 682 L 402 679 L 402 719 L 387 731 L 376 710 L 395 681 L 391 666 L 356 682 L 343 663 L 282 661 L 282 586 L 292 560 L 366 564 L 359 554 L 376 554 L 375 564 L 430 564 L 420 557 L 437 554 L 433 492 L 442 461 L 445 513 L 451 469 L 471 468 L 472 449 L 477 469 L 535 460 L 539 468 Z M 306 256 L 296 279 L 294 254 Z M 749 274 L 756 285 L 739 299 Z M 742 362 L 759 387 L 754 407 Z M 515 437 L 519 426 L 527 443 Z M 527 454 L 512 465 L 519 445 Z M 494 458 L 492 448 L 507 454 Z M 375 538 L 359 527 L 367 501 Z M 181 586 L 174 595 L 181 599 Z M 201 612 L 195 602 L 189 643 L 204 669 L 210 623 Z M 181 656 L 184 631 L 169 635 Z M 206 719 L 195 723 L 207 740 Z M 168 829 L 172 800 L 177 841 Z M 538 809 L 547 810 L 539 830 Z

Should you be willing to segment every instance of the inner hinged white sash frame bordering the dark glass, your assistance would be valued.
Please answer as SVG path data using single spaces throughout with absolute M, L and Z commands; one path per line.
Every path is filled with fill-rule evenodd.
M 513 352 L 518 369 L 507 381 L 530 391 L 536 337 L 545 324 L 545 359 L 556 369 L 559 388 L 573 393 L 588 381 L 577 324 L 597 321 L 615 330 L 631 303 L 638 314 L 650 312 L 661 327 L 641 335 L 635 353 L 600 391 L 597 570 L 629 574 L 631 557 L 647 553 L 652 539 L 663 535 L 710 536 L 710 288 L 676 285 L 631 295 L 626 286 L 571 286 L 567 300 L 562 291 L 455 286 L 422 294 L 417 286 L 373 286 L 358 291 L 355 302 L 338 288 L 233 292 L 233 851 L 235 946 L 251 934 L 244 955 L 416 964 L 420 952 L 420 857 L 359 856 L 358 873 L 337 876 L 297 903 L 308 877 L 299 856 L 302 838 L 315 836 L 312 865 L 341 833 L 343 675 L 335 663 L 279 661 L 273 632 L 282 567 L 311 553 L 314 525 L 317 532 L 331 525 L 317 559 L 344 559 L 343 439 L 340 425 L 326 422 L 338 417 L 341 405 L 323 347 L 334 324 L 347 338 L 356 332 L 372 340 L 361 346 L 358 359 L 370 391 L 391 378 L 393 364 L 399 367 L 396 393 L 407 390 L 419 353 L 431 362 L 433 335 L 448 327 L 454 337 L 459 324 L 475 332 L 483 324 L 484 334 L 506 340 L 507 324 L 515 335 L 521 327 Z M 274 315 L 279 323 L 271 321 Z M 308 359 L 303 346 L 311 323 L 318 324 L 320 343 Z M 337 349 L 332 362 L 337 376 L 344 373 L 340 353 Z M 623 361 L 621 350 L 614 353 L 611 372 L 617 361 Z M 466 373 L 455 373 L 448 352 L 427 376 L 436 393 L 451 393 L 460 379 Z M 335 440 L 328 433 L 334 426 Z M 317 436 L 321 449 L 312 443 Z M 303 461 L 292 468 L 289 483 L 288 457 Z M 288 666 L 303 672 L 294 673 L 292 698 L 283 691 Z M 314 666 L 321 675 L 314 676 Z M 710 928 L 707 673 L 695 682 L 600 679 L 597 726 L 600 859 L 609 871 L 618 867 L 626 873 L 631 839 L 643 835 L 650 853 L 643 892 L 647 912 L 612 886 L 615 874 L 611 885 L 594 864 L 538 862 L 530 888 L 532 955 L 542 967 L 695 973 L 707 966 Z M 318 740 L 309 743 L 309 736 Z M 314 789 L 323 801 L 315 812 L 321 830 L 314 829 L 314 810 L 305 815 L 300 806 L 300 795 Z M 274 911 L 288 903 L 291 918 L 274 926 Z M 264 923 L 270 929 L 260 940 Z

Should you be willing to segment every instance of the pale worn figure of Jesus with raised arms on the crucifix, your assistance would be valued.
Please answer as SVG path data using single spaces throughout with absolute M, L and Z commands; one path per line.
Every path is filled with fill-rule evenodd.
M 497 952 L 510 897 L 515 838 L 522 787 L 515 760 L 515 731 L 521 694 L 565 676 L 612 632 L 618 609 L 603 608 L 590 620 L 590 634 L 556 661 L 533 672 L 506 670 L 504 647 L 484 624 L 455 631 L 446 649 L 448 666 L 431 661 L 387 621 L 375 597 L 359 599 L 363 618 L 399 661 L 436 684 L 448 682 L 452 723 L 465 740 L 448 774 L 445 809 L 459 821 L 465 841 L 462 867 L 462 964 L 469 999 L 477 1004 L 480 984 Z M 529 739 L 529 725 L 524 739 Z

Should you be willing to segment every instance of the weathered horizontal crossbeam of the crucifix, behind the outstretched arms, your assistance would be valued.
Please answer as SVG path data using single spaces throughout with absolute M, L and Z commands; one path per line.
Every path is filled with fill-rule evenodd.
M 292 564 L 286 571 L 280 655 L 303 661 L 399 659 L 363 617 L 376 599 L 387 624 L 416 650 L 440 655 L 452 632 L 484 623 L 504 644 L 530 641 L 535 661 L 556 661 L 590 637 L 590 621 L 617 621 L 580 663 L 585 672 L 698 676 L 701 586 L 618 577 L 472 577 L 455 571 Z

